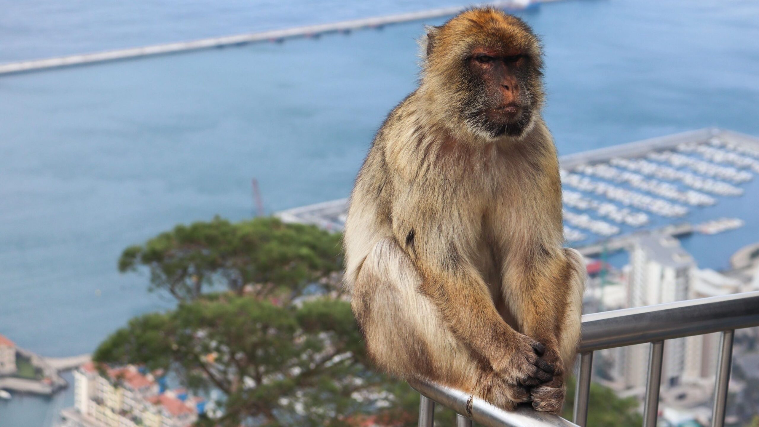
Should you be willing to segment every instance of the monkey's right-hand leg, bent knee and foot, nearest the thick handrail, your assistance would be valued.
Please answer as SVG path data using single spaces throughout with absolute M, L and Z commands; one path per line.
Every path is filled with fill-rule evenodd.
M 525 334 L 546 345 L 543 356 L 556 366 L 553 381 L 531 391 L 533 407 L 559 413 L 564 401 L 564 375 L 580 340 L 585 265 L 578 251 L 564 248 L 556 256 L 518 262 L 509 268 L 504 285 L 509 308 Z

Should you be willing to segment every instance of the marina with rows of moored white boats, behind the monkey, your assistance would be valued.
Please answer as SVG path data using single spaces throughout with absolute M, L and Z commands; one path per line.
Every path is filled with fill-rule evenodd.
M 624 249 L 630 237 L 654 230 L 682 236 L 740 228 L 740 218 L 691 225 L 688 215 L 742 196 L 740 186 L 754 179 L 754 155 L 756 138 L 703 129 L 562 157 L 565 240 L 591 255 Z M 347 203 L 337 199 L 276 215 L 339 231 Z

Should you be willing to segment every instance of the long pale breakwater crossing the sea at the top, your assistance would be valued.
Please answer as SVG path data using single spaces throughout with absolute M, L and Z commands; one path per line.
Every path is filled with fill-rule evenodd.
M 533 2 L 519 2 L 518 0 L 509 0 L 507 2 L 487 2 L 483 3 L 482 5 L 518 10 L 524 9 L 526 5 L 530 4 L 556 1 L 558 0 L 533 0 Z M 356 20 L 344 20 L 332 24 L 294 27 L 285 30 L 269 30 L 259 33 L 244 33 L 234 36 L 212 37 L 208 39 L 198 39 L 187 42 L 162 43 L 158 45 L 143 46 L 137 48 L 115 49 L 105 52 L 84 53 L 80 55 L 67 55 L 55 58 L 11 62 L 7 64 L 0 64 L 0 76 L 4 74 L 17 74 L 29 71 L 49 70 L 52 68 L 71 67 L 75 65 L 97 64 L 107 61 L 142 58 L 146 56 L 168 55 L 200 49 L 222 48 L 225 46 L 242 46 L 255 42 L 281 42 L 285 39 L 315 37 L 328 33 L 348 33 L 351 30 L 380 28 L 390 24 L 401 24 L 414 20 L 425 20 L 435 17 L 452 16 L 458 14 L 458 12 L 464 10 L 465 8 L 465 6 L 437 8 L 428 11 L 394 14 L 384 17 L 369 17 Z

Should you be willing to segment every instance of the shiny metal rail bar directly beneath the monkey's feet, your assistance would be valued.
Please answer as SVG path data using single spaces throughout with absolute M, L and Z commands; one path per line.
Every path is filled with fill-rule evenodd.
M 465 414 L 483 427 L 578 427 L 560 416 L 533 410 L 531 407 L 518 407 L 513 412 L 507 412 L 445 385 L 415 379 L 408 380 L 408 384 L 423 397 L 449 407 L 456 413 Z

